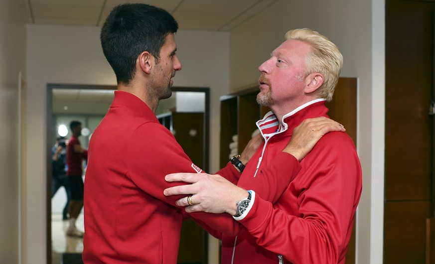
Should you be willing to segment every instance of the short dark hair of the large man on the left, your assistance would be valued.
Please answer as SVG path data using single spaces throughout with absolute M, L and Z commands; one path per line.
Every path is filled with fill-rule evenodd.
M 100 40 L 117 83 L 129 84 L 133 80 L 136 59 L 145 50 L 158 63 L 166 36 L 177 30 L 177 21 L 162 8 L 145 3 L 116 6 L 103 24 Z

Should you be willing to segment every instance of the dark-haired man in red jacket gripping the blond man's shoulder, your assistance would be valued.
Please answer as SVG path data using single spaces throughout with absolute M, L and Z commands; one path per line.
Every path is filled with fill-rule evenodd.
M 115 7 L 102 27 L 103 52 L 116 74 L 118 87 L 89 143 L 85 263 L 177 262 L 185 214 L 175 206 L 180 197 L 163 195 L 163 189 L 173 186 L 164 176 L 202 171 L 154 115 L 159 101 L 171 96 L 171 78 L 181 70 L 175 53 L 177 29 L 177 22 L 167 11 L 147 4 Z M 283 147 L 291 171 L 298 171 L 303 152 L 309 152 L 324 133 L 343 128 L 320 119 L 307 122 L 301 130 L 309 131 L 304 134 L 306 138 Z M 249 160 L 260 141 L 260 137 L 251 140 L 241 153 L 242 162 Z M 220 174 L 236 182 L 240 171 L 229 163 Z M 215 227 L 220 225 L 220 218 L 213 214 L 192 217 Z

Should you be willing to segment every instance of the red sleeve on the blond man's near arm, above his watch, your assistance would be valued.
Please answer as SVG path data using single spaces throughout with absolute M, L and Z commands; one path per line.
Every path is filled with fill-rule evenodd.
M 347 138 L 343 140 L 343 136 Z M 349 242 L 361 195 L 361 166 L 355 147 L 344 133 L 329 133 L 301 164 L 302 171 L 276 205 L 256 197 L 239 222 L 259 246 L 291 263 L 337 264 L 344 257 L 339 255 Z M 297 212 L 282 210 L 288 195 L 297 197 Z

